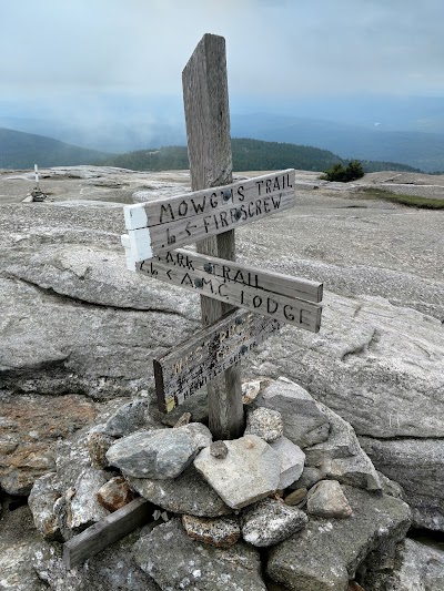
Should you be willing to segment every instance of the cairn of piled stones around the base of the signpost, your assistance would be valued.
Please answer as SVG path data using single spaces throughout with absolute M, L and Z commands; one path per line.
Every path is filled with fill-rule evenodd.
M 98 564 L 104 577 L 108 556 L 107 572 L 125 572 L 119 589 L 392 589 L 381 581 L 410 528 L 401 488 L 375 470 L 350 424 L 296 384 L 281 378 L 244 401 L 235 440 L 213 441 L 194 412 L 165 427 L 138 399 L 67 445 L 29 498 L 50 542 L 40 579 L 82 589 Z M 57 542 L 138 496 L 155 506 L 153 522 L 63 572 Z

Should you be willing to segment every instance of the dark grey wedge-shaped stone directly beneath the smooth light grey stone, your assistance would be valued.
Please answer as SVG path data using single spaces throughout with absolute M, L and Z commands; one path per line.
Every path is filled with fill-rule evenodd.
M 193 465 L 174 479 L 151 480 L 127 475 L 127 480 L 141 497 L 172 513 L 219 517 L 232 512 Z

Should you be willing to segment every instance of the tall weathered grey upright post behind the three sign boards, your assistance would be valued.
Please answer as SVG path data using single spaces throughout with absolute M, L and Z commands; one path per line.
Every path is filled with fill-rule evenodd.
M 225 40 L 204 34 L 182 72 L 192 191 L 232 182 Z M 234 231 L 198 243 L 198 252 L 235 259 Z M 232 306 L 201 296 L 202 324 L 208 326 Z M 240 364 L 208 386 L 210 430 L 214 439 L 235 439 L 244 416 Z

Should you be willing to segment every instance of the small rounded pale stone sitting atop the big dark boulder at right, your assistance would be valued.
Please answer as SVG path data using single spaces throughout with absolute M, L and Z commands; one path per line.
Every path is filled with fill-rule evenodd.
M 314 485 L 306 497 L 306 510 L 313 516 L 336 519 L 352 514 L 352 508 L 337 480 L 321 480 Z

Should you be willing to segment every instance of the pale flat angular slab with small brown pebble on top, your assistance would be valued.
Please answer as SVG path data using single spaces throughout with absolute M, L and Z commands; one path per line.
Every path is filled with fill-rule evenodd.
M 195 469 L 232 509 L 241 509 L 278 489 L 281 458 L 255 435 L 225 441 L 228 455 L 214 458 L 210 448 L 194 460 Z

